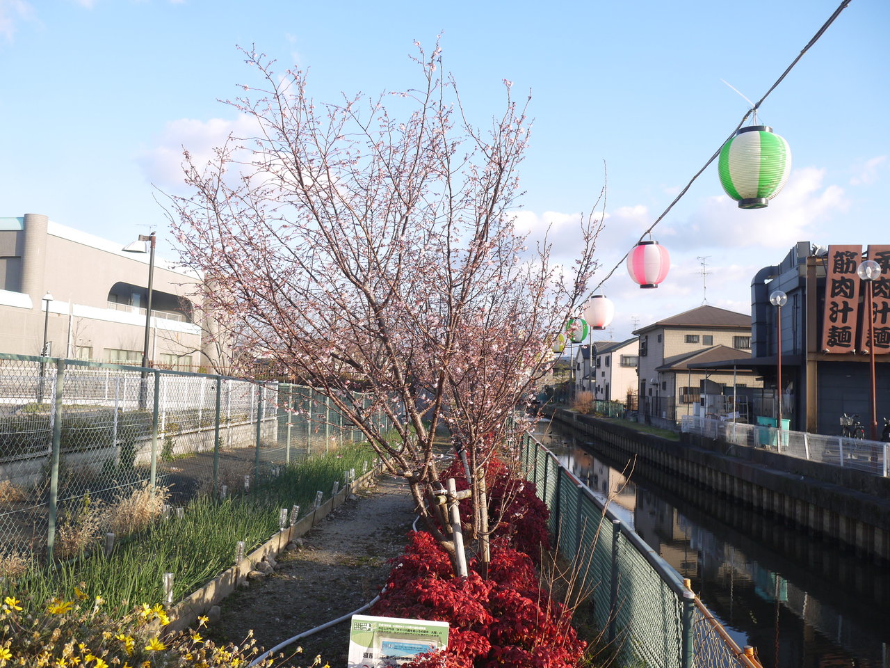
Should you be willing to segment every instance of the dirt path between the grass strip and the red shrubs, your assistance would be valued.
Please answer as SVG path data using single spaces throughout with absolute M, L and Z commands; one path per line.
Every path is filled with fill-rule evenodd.
M 251 582 L 223 602 L 222 618 L 207 635 L 240 643 L 251 629 L 257 644 L 272 648 L 320 624 L 347 615 L 373 599 L 401 554 L 416 517 L 407 485 L 381 476 L 376 485 L 305 534 L 297 550 L 284 552 L 274 573 Z M 316 655 L 332 668 L 346 665 L 349 623 L 297 640 L 286 656 L 303 648 L 287 666 L 312 665 Z

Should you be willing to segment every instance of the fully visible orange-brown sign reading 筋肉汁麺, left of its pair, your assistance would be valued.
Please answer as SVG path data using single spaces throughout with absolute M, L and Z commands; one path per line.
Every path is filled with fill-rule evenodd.
M 822 352 L 854 353 L 859 311 L 859 276 L 862 246 L 829 246 L 825 279 L 825 315 Z

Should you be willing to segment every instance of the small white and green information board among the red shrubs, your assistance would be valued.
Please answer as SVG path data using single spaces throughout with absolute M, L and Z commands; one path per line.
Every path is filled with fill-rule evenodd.
M 352 615 L 349 668 L 384 668 L 448 647 L 448 622 Z

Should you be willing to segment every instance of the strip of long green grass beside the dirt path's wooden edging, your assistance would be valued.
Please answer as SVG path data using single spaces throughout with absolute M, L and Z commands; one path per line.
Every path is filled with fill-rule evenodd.
M 163 575 L 173 573 L 174 601 L 181 600 L 234 565 L 239 541 L 247 555 L 277 532 L 280 509 L 289 514 L 299 505 L 302 517 L 318 491 L 329 498 L 334 481 L 343 483 L 344 471 L 355 468 L 358 476 L 362 462 L 370 466 L 372 459 L 367 446 L 353 446 L 283 467 L 279 476 L 249 494 L 224 501 L 200 496 L 182 518 L 171 512 L 142 534 L 118 543 L 109 557 L 99 548 L 54 569 L 36 567 L 16 578 L 9 593 L 35 601 L 69 600 L 77 587 L 125 610 L 160 602 Z

